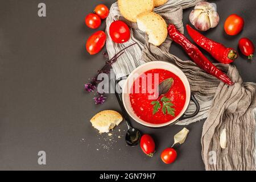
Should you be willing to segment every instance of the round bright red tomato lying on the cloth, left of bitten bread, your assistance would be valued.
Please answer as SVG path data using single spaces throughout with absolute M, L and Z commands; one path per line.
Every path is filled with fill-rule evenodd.
M 117 20 L 110 24 L 109 34 L 115 43 L 125 43 L 131 36 L 129 27 L 121 20 Z

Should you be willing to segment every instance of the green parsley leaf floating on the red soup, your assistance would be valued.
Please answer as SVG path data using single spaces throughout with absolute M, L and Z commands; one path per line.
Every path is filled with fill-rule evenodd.
M 172 106 L 174 106 L 174 104 L 172 104 L 170 98 L 167 98 L 166 96 L 164 96 L 164 97 L 161 98 L 161 102 L 163 103 L 162 113 L 164 115 L 166 115 L 166 111 L 167 111 L 167 114 L 170 114 L 174 117 L 175 116 L 175 109 L 172 107 Z M 151 104 L 154 105 L 153 114 L 157 113 L 158 110 L 161 108 L 160 102 L 159 101 L 152 101 Z

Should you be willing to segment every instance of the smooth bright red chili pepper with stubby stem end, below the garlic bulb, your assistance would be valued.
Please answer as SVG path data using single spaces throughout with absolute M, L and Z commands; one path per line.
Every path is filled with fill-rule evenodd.
M 188 35 L 195 41 L 195 43 L 205 51 L 209 52 L 214 59 L 220 63 L 229 64 L 237 59 L 237 51 L 233 48 L 226 48 L 222 44 L 213 41 L 200 34 L 198 31 L 194 30 L 187 24 Z

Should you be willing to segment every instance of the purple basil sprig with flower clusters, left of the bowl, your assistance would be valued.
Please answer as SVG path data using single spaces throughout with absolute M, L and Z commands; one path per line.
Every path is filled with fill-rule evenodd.
M 88 82 L 84 85 L 84 90 L 87 91 L 87 92 L 93 92 L 96 89 L 96 86 L 97 86 L 98 82 L 100 82 L 100 81 L 97 80 L 98 75 L 100 73 L 109 73 L 108 68 L 111 67 L 112 64 L 115 63 L 115 61 L 117 61 L 118 57 L 120 57 L 123 53 L 125 53 L 124 52 L 125 49 L 127 49 L 127 48 L 129 48 L 129 47 L 131 47 L 135 44 L 137 44 L 137 43 L 133 43 L 130 46 L 127 46 L 127 47 L 123 48 L 121 51 L 116 53 L 114 55 L 114 57 L 112 57 L 112 59 L 110 59 L 110 60 L 109 60 L 109 57 L 108 57 L 108 53 L 104 52 L 103 55 L 107 59 L 104 67 L 101 70 L 97 71 L 97 75 L 95 77 L 93 77 L 92 79 L 90 79 L 90 82 Z M 96 105 L 103 104 L 106 100 L 106 97 L 104 97 L 104 94 L 100 94 L 100 93 L 98 93 L 98 94 L 99 94 L 98 97 L 93 98 Z

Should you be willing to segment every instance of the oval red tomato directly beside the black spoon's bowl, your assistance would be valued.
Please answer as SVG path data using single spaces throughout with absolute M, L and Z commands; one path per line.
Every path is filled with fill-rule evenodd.
M 144 134 L 141 137 L 141 149 L 148 156 L 153 156 L 155 152 L 155 142 L 150 135 Z

